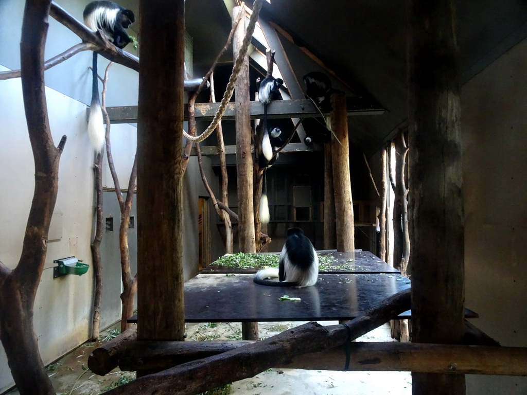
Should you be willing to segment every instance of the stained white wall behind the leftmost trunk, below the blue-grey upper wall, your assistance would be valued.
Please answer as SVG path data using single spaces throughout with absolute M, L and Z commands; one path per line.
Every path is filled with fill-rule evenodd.
M 6 70 L 0 66 L 0 70 Z M 91 263 L 93 157 L 86 150 L 86 106 L 46 88 L 55 145 L 67 142 L 61 157 L 54 216 L 57 241 L 48 242 L 46 264 L 35 301 L 35 331 L 45 363 L 87 339 L 91 310 L 91 271 L 53 279 L 53 260 L 75 255 Z M 22 251 L 34 189 L 33 153 L 25 124 L 21 81 L 0 81 L 0 261 L 13 269 Z M 62 228 L 62 230 L 61 230 Z M 53 230 L 53 229 L 52 229 Z M 12 385 L 0 346 L 0 392 Z

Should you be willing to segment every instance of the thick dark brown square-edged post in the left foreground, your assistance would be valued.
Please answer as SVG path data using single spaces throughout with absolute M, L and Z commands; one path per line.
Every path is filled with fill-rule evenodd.
M 184 0 L 139 7 L 138 339 L 183 340 Z

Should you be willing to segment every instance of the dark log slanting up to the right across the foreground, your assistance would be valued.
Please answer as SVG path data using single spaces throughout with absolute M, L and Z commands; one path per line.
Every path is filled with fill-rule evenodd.
M 408 310 L 410 304 L 410 290 L 407 289 L 364 311 L 346 325 L 324 327 L 309 322 L 245 347 L 148 374 L 106 393 L 185 395 L 203 392 L 253 377 L 274 366 L 283 366 L 302 354 L 342 346 Z

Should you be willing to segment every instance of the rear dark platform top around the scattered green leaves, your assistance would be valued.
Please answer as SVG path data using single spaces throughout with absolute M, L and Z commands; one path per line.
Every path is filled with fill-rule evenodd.
M 331 255 L 335 262 L 320 266 L 319 273 L 400 273 L 369 251 L 337 252 L 336 250 L 317 251 L 319 255 Z M 279 254 L 279 252 L 270 253 Z M 262 266 L 263 267 L 263 266 Z M 200 273 L 256 273 L 262 268 L 230 268 L 209 265 Z

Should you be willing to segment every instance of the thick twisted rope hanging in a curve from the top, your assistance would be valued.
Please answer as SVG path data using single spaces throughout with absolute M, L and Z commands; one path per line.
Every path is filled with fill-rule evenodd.
M 216 115 L 214 115 L 214 119 L 212 120 L 209 127 L 207 127 L 207 129 L 199 136 L 191 136 L 187 132 L 183 131 L 183 136 L 187 140 L 196 141 L 198 143 L 202 142 L 210 136 L 210 134 L 214 131 L 214 129 L 216 129 L 216 126 L 220 122 L 221 117 L 223 116 L 223 113 L 227 108 L 227 104 L 229 103 L 229 100 L 232 96 L 232 93 L 234 92 L 235 83 L 236 80 L 238 80 L 238 75 L 240 74 L 241 66 L 243 64 L 243 58 L 245 58 L 245 55 L 247 54 L 247 48 L 249 47 L 249 44 L 251 42 L 252 33 L 255 31 L 255 25 L 258 21 L 258 14 L 260 13 L 261 7 L 262 0 L 255 0 L 255 3 L 252 7 L 252 14 L 249 19 L 249 25 L 247 26 L 247 32 L 245 34 L 245 37 L 243 38 L 243 42 L 240 48 L 240 53 L 238 54 L 234 66 L 232 67 L 232 74 L 229 78 L 229 83 L 227 84 L 225 94 L 223 94 L 223 98 L 221 99 L 220 107 L 218 108 Z

